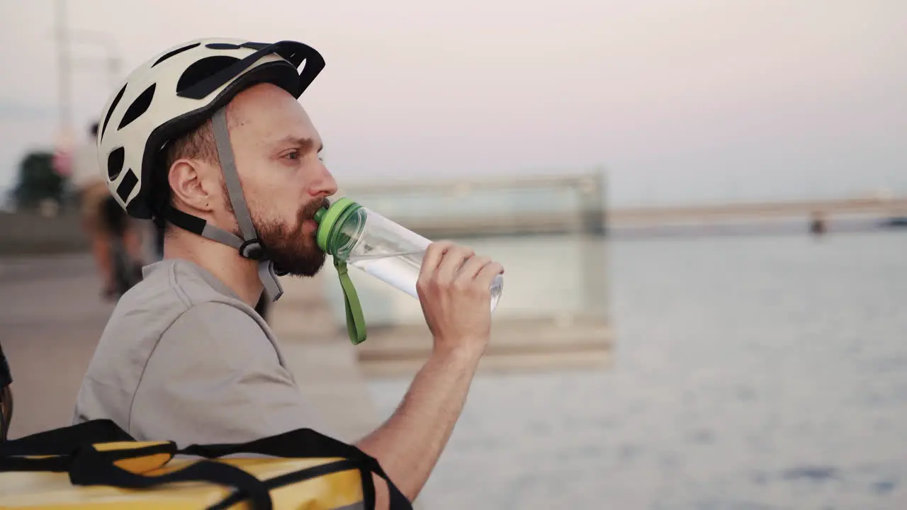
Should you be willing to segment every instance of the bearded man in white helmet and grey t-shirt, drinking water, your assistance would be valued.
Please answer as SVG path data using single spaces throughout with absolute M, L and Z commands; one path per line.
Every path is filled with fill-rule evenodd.
M 111 419 L 178 446 L 330 435 L 254 309 L 263 293 L 279 298 L 277 273 L 311 277 L 326 260 L 314 218 L 336 181 L 297 101 L 323 66 L 297 42 L 200 39 L 141 64 L 104 106 L 102 174 L 132 216 L 166 221 L 165 258 L 114 309 L 74 423 Z M 428 247 L 417 289 L 433 353 L 395 413 L 355 443 L 403 493 L 378 482 L 385 505 L 412 501 L 434 470 L 488 345 L 502 272 L 451 242 Z

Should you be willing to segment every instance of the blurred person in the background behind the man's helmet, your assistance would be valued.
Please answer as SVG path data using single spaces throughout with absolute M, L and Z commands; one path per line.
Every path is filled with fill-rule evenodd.
M 114 238 L 132 260 L 133 271 L 141 272 L 141 232 L 112 201 L 98 162 L 99 123 L 89 126 L 89 139 L 73 153 L 73 173 L 70 177 L 79 198 L 82 227 L 92 245 L 92 253 L 102 281 L 102 296 L 112 298 L 118 294 L 114 273 Z M 113 207 L 111 207 L 113 205 Z

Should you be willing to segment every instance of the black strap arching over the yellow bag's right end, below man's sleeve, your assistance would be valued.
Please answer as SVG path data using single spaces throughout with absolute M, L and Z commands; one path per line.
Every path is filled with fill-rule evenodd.
M 343 457 L 355 463 L 362 476 L 363 503 L 367 509 L 375 508 L 375 481 L 372 473 L 387 482 L 391 510 L 412 510 L 412 503 L 394 485 L 378 461 L 367 456 L 356 446 L 347 445 L 333 437 L 325 436 L 310 428 L 291 430 L 278 436 L 268 436 L 239 445 L 192 445 L 180 454 L 217 458 L 239 453 L 254 453 L 278 457 Z M 351 466 L 352 467 L 352 466 Z

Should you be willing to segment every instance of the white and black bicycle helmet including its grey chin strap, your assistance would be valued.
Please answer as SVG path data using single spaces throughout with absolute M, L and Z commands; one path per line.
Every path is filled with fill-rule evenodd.
M 299 65 L 305 63 L 302 70 Z M 282 289 L 267 247 L 249 216 L 230 148 L 225 107 L 255 83 L 274 83 L 299 97 L 325 67 L 324 58 L 306 44 L 253 43 L 240 39 L 196 39 L 179 44 L 141 64 L 104 105 L 98 132 L 98 161 L 111 194 L 122 208 L 142 220 L 158 219 L 227 244 L 259 261 L 258 275 L 271 299 Z M 173 139 L 211 119 L 220 167 L 242 239 L 206 221 L 156 204 L 156 172 Z M 163 181 L 166 185 L 166 181 Z

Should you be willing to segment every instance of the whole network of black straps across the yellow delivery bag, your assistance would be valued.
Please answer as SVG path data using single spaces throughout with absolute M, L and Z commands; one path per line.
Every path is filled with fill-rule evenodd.
M 112 420 L 99 419 L 71 427 L 57 428 L 24 436 L 0 444 L 0 472 L 68 471 L 73 485 L 110 485 L 122 488 L 148 488 L 173 482 L 208 482 L 232 487 L 235 492 L 211 508 L 229 508 L 249 500 L 256 510 L 272 508 L 272 488 L 297 483 L 316 476 L 358 469 L 362 476 L 363 503 L 375 508 L 375 481 L 381 476 L 390 491 L 392 510 L 412 510 L 413 506 L 397 489 L 377 460 L 356 446 L 319 434 L 311 429 L 298 429 L 237 445 L 192 445 L 181 450 L 172 442 L 136 445 L 135 448 L 99 449 L 95 445 L 114 442 L 136 442 Z M 144 476 L 118 466 L 117 461 L 136 456 L 167 453 L 208 459 L 232 454 L 260 454 L 277 457 L 340 457 L 341 460 L 313 466 L 294 473 L 262 481 L 237 466 L 202 460 L 160 476 Z M 141 454 L 141 455 L 137 455 Z M 34 458 L 32 456 L 45 456 Z

